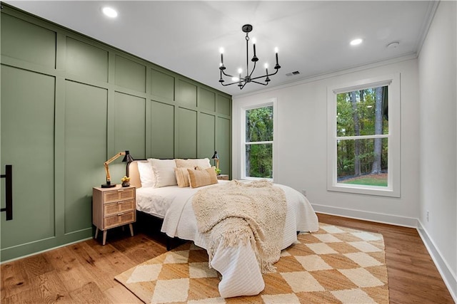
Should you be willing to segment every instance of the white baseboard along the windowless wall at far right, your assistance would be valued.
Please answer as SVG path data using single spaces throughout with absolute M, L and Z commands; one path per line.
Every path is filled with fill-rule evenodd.
M 430 253 L 430 256 L 433 262 L 435 263 L 436 268 L 438 268 L 438 271 L 441 274 L 441 278 L 443 278 L 443 281 L 446 284 L 449 293 L 451 293 L 454 302 L 457 303 L 456 276 L 452 273 L 451 268 L 449 268 L 446 261 L 442 258 L 441 253 L 438 250 L 438 248 L 436 248 L 435 244 L 433 243 L 433 240 L 430 239 L 430 237 L 428 236 L 426 229 L 421 224 L 421 221 L 418 221 L 417 231 L 419 233 L 419 236 L 421 236 L 421 239 L 425 244 L 428 253 Z

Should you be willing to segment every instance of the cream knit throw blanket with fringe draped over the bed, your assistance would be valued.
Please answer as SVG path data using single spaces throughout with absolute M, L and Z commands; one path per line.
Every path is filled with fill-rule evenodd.
M 233 180 L 201 189 L 192 201 L 199 232 L 206 236 L 211 262 L 219 245 L 250 243 L 262 273 L 281 256 L 286 195 L 272 182 Z

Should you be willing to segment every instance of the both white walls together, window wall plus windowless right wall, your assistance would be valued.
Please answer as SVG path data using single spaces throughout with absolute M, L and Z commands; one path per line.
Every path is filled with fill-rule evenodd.
M 456 15 L 456 1 L 441 1 L 417 59 L 234 97 L 232 174 L 241 176 L 241 108 L 277 98 L 275 182 L 306 189 L 316 211 L 417 226 L 457 302 Z M 401 73 L 401 197 L 328 192 L 327 87 L 392 73 Z

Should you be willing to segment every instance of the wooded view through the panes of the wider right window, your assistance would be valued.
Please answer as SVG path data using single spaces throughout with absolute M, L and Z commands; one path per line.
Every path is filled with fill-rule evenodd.
M 388 133 L 388 86 L 337 94 L 337 182 L 387 187 Z

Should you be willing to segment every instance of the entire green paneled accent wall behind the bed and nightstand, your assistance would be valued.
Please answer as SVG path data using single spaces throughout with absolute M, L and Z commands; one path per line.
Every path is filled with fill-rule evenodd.
M 0 159 L 1 172 L 13 165 L 14 212 L 0 214 L 1 261 L 91 238 L 92 187 L 118 152 L 217 150 L 231 174 L 230 95 L 2 5 Z M 121 160 L 109 166 L 116 184 Z

